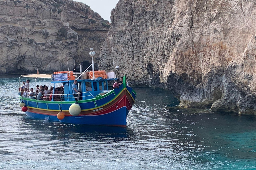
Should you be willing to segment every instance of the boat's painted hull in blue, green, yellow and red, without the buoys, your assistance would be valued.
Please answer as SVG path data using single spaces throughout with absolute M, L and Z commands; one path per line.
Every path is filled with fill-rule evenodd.
M 131 110 L 136 92 L 130 87 L 120 86 L 111 92 L 94 99 L 78 101 L 81 113 L 72 116 L 69 107 L 72 102 L 40 101 L 20 97 L 28 107 L 26 115 L 31 118 L 59 121 L 60 110 L 65 113 L 61 122 L 82 125 L 107 125 L 126 127 L 126 117 Z

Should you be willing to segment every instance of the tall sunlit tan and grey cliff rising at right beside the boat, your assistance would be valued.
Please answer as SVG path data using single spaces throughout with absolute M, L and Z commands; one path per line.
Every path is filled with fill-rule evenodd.
M 256 114 L 256 2 L 122 0 L 99 67 L 172 90 L 182 107 Z M 112 43 L 113 42 L 113 51 Z

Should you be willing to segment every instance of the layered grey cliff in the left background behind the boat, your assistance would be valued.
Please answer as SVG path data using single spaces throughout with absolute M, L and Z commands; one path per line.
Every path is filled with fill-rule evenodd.
M 90 47 L 99 59 L 107 23 L 72 0 L 0 0 L 0 73 L 63 71 L 67 60 L 86 68 Z

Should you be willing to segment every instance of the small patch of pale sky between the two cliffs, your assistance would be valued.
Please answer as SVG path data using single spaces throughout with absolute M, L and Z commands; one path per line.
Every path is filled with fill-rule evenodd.
M 97 12 L 100 14 L 100 16 L 104 20 L 108 20 L 110 22 L 110 12 L 113 8 L 115 8 L 118 0 L 74 0 L 78 2 L 82 2 L 89 7 L 94 12 Z

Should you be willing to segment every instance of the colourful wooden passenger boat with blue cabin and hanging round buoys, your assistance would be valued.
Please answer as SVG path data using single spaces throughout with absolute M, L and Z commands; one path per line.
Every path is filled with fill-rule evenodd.
M 91 56 L 93 61 L 93 55 Z M 91 65 L 93 66 L 93 63 Z M 37 119 L 61 120 L 71 124 L 126 127 L 126 117 L 136 97 L 136 92 L 126 84 L 126 76 L 123 77 L 123 83 L 119 88 L 109 90 L 108 82 L 117 79 L 115 72 L 94 71 L 94 66 L 90 72 L 87 69 L 79 73 L 62 71 L 54 74 L 20 76 L 20 78 L 35 78 L 35 82 L 37 78 L 51 78 L 53 83 L 53 94 L 49 101 L 19 96 L 22 111 L 28 117 Z M 73 96 L 72 91 L 75 80 L 79 90 L 77 98 Z M 54 94 L 58 85 L 63 86 L 62 95 Z

